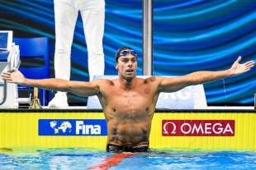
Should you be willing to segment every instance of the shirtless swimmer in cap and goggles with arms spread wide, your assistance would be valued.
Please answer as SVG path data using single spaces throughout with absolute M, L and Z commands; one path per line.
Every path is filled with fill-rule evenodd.
M 240 64 L 241 57 L 224 71 L 196 71 L 185 76 L 136 77 L 137 53 L 132 48 L 120 48 L 116 53 L 115 80 L 91 82 L 61 79 L 31 80 L 20 71 L 4 72 L 9 83 L 34 86 L 48 90 L 67 91 L 82 96 L 97 95 L 107 120 L 107 151 L 145 152 L 149 149 L 149 134 L 155 105 L 161 92 L 175 92 L 188 85 L 237 76 L 254 67 L 254 61 Z

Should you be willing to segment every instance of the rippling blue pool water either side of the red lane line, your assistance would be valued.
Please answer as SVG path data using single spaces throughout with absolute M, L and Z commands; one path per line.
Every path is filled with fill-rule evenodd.
M 84 149 L 2 152 L 0 169 L 87 169 L 114 154 Z M 256 152 L 153 151 L 123 159 L 114 169 L 256 169 Z

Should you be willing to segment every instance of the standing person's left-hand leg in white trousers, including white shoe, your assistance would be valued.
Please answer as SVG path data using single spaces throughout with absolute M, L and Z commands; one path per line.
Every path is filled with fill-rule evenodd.
M 70 54 L 77 18 L 78 9 L 73 0 L 55 0 L 55 78 L 70 79 Z M 67 94 L 58 92 L 48 106 L 69 107 Z

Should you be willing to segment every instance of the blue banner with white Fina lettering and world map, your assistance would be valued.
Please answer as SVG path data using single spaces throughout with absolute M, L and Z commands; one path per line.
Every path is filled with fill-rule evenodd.
M 39 136 L 107 136 L 105 119 L 39 119 Z

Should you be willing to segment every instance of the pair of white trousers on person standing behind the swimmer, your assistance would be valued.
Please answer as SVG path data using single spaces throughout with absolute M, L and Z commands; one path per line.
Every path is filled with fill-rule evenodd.
M 70 79 L 70 55 L 73 31 L 80 11 L 88 48 L 90 80 L 104 75 L 102 38 L 105 21 L 104 0 L 55 0 L 55 77 Z

